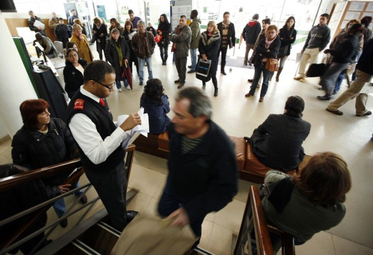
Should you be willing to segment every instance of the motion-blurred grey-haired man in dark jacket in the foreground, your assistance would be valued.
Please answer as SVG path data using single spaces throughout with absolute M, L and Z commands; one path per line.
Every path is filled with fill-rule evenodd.
M 211 101 L 202 89 L 184 88 L 175 101 L 168 127 L 169 174 L 158 212 L 173 220 L 173 226 L 189 224 L 200 237 L 206 214 L 225 207 L 237 194 L 235 150 L 210 119 Z

